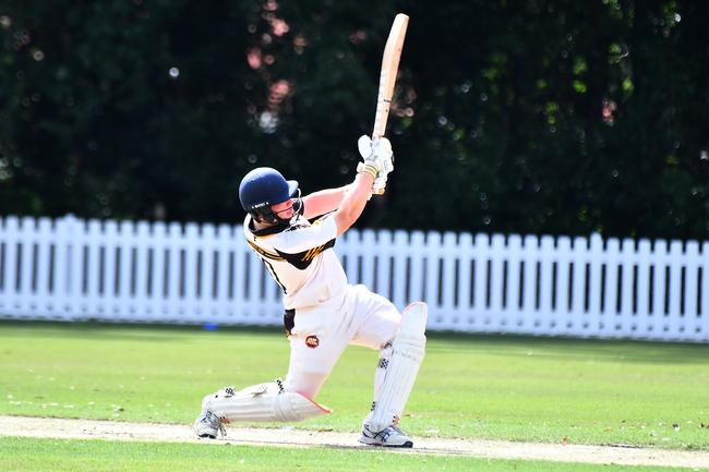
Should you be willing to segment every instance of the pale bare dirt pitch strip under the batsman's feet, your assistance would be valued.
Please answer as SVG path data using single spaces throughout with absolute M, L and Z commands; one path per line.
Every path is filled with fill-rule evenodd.
M 189 425 L 0 415 L 0 436 L 371 449 L 368 446 L 360 445 L 357 441 L 357 435 L 348 433 L 305 431 L 292 427 L 228 427 L 227 432 L 228 436 L 226 438 L 211 440 L 195 438 Z M 414 438 L 413 449 L 397 450 L 397 452 L 468 456 L 489 459 L 682 467 L 697 470 L 709 468 L 709 452 L 705 451 L 621 446 L 578 446 L 420 437 Z

